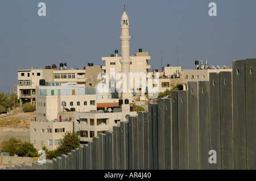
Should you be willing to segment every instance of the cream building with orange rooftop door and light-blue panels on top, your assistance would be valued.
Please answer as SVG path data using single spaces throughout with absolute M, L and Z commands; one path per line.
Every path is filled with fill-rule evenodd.
M 36 120 L 59 119 L 60 111 L 96 111 L 96 100 L 96 90 L 85 85 L 37 86 Z

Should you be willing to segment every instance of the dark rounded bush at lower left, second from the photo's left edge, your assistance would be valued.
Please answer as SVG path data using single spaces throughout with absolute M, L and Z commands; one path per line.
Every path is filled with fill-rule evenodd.
M 16 154 L 20 157 L 36 157 L 38 155 L 38 151 L 34 148 L 34 145 L 30 142 L 24 142 L 19 148 L 16 150 Z

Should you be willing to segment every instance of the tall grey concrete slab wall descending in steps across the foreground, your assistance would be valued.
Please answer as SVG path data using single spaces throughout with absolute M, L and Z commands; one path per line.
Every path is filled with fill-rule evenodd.
M 256 169 L 256 59 L 188 82 L 67 155 L 6 169 Z M 212 162 L 213 161 L 213 162 Z

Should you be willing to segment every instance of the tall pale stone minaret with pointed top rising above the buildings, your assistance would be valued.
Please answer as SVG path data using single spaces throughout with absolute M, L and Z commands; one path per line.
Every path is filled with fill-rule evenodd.
M 129 18 L 125 12 L 123 11 L 123 15 L 121 18 L 121 36 L 119 36 L 121 40 L 121 50 L 122 50 L 122 57 L 120 60 L 121 63 L 121 72 L 126 74 L 127 78 L 127 86 L 126 91 L 122 92 L 122 99 L 125 100 L 126 98 L 129 99 L 129 103 L 132 102 L 132 94 L 129 91 L 129 72 L 130 72 L 130 39 L 131 36 L 129 35 Z M 123 85 L 124 86 L 124 85 Z

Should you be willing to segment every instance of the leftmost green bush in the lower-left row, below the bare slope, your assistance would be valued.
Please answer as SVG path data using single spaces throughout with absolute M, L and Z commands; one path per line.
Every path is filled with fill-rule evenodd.
M 11 137 L 8 141 L 2 142 L 2 152 L 9 152 L 10 156 L 14 156 L 21 144 L 22 141 L 17 140 L 15 137 Z

